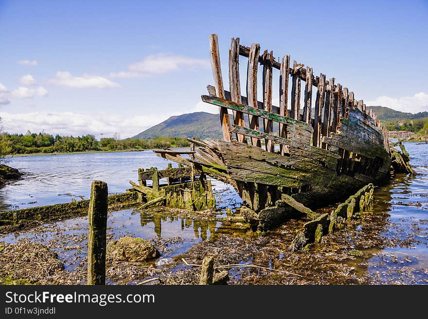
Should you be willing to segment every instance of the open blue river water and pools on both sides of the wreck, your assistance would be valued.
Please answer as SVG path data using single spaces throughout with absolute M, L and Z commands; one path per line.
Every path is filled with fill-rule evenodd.
M 374 210 L 389 214 L 381 235 L 393 239 L 392 244 L 381 247 L 381 254 L 374 254 L 368 262 L 366 271 L 376 278 L 377 283 L 428 282 L 428 144 L 405 143 L 405 146 L 410 153 L 410 164 L 418 175 L 397 175 L 392 178 L 390 184 L 375 190 Z M 73 198 L 88 199 L 92 180 L 107 182 L 111 194 L 124 192 L 130 187 L 129 180 L 138 179 L 138 168 L 163 169 L 168 163 L 169 161 L 161 159 L 149 150 L 13 157 L 8 165 L 19 169 L 25 175 L 1 188 L 0 205 L 2 210 L 6 210 L 66 203 L 71 202 Z M 176 163 L 172 165 L 176 167 Z M 212 183 L 219 215 L 225 214 L 227 206 L 240 205 L 241 201 L 232 187 L 215 180 Z M 108 229 L 111 238 L 127 235 L 147 239 L 182 238 L 183 242 L 176 250 L 164 254 L 158 260 L 159 265 L 168 263 L 172 257 L 187 251 L 201 240 L 214 239 L 214 234 L 221 225 L 219 222 L 198 222 L 132 212 L 128 209 L 110 213 Z M 26 238 L 47 244 L 61 237 L 64 243 L 54 246 L 53 249 L 57 251 L 66 269 L 73 270 L 86 254 L 87 228 L 88 219 L 80 217 L 46 224 L 42 233 L 29 230 L 0 234 L 0 241 L 14 243 Z M 409 236 L 411 241 L 407 240 Z M 409 278 L 400 278 L 400 271 L 386 271 L 395 268 L 410 269 L 412 276 L 417 279 L 409 281 Z

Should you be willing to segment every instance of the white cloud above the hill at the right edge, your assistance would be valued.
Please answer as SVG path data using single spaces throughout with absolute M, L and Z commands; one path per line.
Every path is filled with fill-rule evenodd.
M 418 113 L 428 111 L 428 94 L 420 92 L 413 96 L 404 96 L 400 98 L 382 95 L 374 101 L 365 102 L 365 104 L 386 106 L 401 112 Z

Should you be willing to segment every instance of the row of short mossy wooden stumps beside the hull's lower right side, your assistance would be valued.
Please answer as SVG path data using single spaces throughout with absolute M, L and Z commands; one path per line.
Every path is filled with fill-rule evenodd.
M 290 250 L 307 249 L 310 243 L 320 243 L 322 236 L 344 228 L 358 213 L 373 207 L 374 185 L 368 184 L 339 204 L 331 213 L 324 213 L 303 225 L 290 245 Z

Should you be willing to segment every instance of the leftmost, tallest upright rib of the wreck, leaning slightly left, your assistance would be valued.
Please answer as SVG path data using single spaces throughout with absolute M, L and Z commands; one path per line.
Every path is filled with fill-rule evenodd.
M 221 75 L 220 67 L 220 53 L 218 52 L 218 37 L 216 34 L 210 35 L 210 56 L 211 68 L 213 69 L 214 85 L 216 94 L 220 98 L 225 98 L 223 78 Z M 232 140 L 231 123 L 227 109 L 219 108 L 221 131 L 223 132 L 223 139 L 230 142 Z

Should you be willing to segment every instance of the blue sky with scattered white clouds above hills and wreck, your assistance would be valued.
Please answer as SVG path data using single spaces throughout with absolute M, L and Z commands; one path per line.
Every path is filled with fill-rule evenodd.
M 211 33 L 226 89 L 240 37 L 334 76 L 367 105 L 428 111 L 427 0 L 0 0 L 0 30 L 9 132 L 129 137 L 171 115 L 215 113 L 200 102 L 213 82 Z

